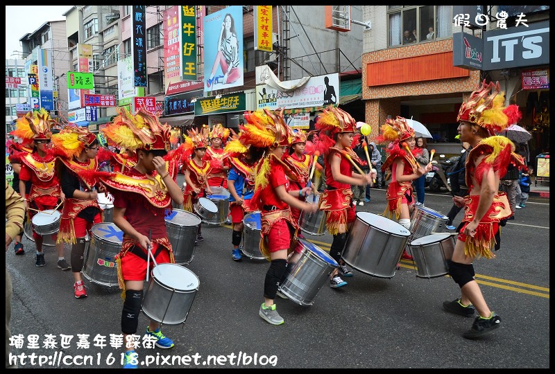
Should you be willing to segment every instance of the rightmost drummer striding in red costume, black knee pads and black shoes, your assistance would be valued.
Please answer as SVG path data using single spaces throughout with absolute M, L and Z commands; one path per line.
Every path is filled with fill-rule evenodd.
M 464 317 L 478 312 L 472 328 L 463 333 L 475 339 L 499 327 L 501 318 L 490 310 L 478 283 L 472 263 L 476 258 L 494 258 L 495 234 L 499 222 L 511 215 L 506 193 L 499 193 L 499 179 L 511 162 L 522 163 L 515 154 L 514 144 L 505 136 L 495 136 L 511 123 L 517 123 L 520 111 L 517 105 L 503 107 L 504 93 L 499 82 L 482 82 L 461 105 L 456 120 L 461 141 L 472 147 L 466 159 L 466 185 L 468 195 L 454 196 L 453 202 L 464 207 L 464 217 L 456 240 L 453 256 L 448 262 L 449 275 L 461 288 L 461 296 L 445 301 L 443 308 Z

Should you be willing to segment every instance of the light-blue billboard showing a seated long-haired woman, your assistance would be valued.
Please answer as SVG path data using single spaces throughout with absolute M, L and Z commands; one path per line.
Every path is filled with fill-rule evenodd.
M 205 92 L 243 85 L 242 6 L 205 15 L 204 57 Z

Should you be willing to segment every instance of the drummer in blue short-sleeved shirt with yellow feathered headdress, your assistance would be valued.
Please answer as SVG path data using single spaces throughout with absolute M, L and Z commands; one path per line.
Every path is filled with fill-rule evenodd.
M 231 244 L 233 260 L 240 261 L 241 240 L 243 239 L 243 218 L 250 211 L 250 199 L 255 193 L 255 166 L 262 157 L 264 149 L 252 145 L 244 145 L 239 136 L 225 145 L 231 165 L 228 173 L 228 190 L 230 191 Z

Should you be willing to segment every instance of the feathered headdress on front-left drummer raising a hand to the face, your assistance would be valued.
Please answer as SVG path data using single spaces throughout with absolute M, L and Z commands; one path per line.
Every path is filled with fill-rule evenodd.
M 110 143 L 128 150 L 166 150 L 170 148 L 171 127 L 162 125 L 158 115 L 141 108 L 135 115 L 119 109 L 114 122 L 101 130 Z

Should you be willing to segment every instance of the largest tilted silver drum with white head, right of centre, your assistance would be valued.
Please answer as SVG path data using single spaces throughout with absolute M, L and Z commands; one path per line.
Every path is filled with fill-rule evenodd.
M 359 212 L 341 258 L 353 269 L 378 278 L 393 278 L 409 230 L 381 215 Z

